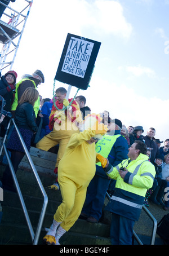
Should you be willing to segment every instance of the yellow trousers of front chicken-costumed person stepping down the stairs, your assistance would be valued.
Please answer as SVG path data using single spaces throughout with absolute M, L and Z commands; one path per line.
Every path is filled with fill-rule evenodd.
M 84 186 L 78 186 L 73 180 L 59 177 L 59 186 L 63 202 L 57 208 L 54 219 L 62 222 L 60 226 L 68 231 L 81 214 L 88 182 Z

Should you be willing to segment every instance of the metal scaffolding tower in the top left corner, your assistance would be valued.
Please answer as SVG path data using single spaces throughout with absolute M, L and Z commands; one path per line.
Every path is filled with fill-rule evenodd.
M 0 18 L 0 47 L 2 45 L 0 72 L 7 67 L 9 70 L 12 69 L 33 0 L 19 0 L 19 2 L 16 0 L 16 3 L 9 5 L 4 2 L 0 0 L 0 7 L 2 5 L 6 8 Z M 11 6 L 20 8 L 21 11 Z

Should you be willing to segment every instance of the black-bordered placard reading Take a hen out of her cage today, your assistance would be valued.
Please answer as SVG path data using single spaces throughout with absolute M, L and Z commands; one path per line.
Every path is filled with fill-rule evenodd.
M 68 34 L 55 80 L 86 90 L 101 43 Z

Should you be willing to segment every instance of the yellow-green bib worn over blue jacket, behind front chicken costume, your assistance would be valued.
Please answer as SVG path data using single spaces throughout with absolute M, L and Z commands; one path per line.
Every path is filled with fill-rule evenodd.
M 99 140 L 99 142 L 96 143 L 96 152 L 99 153 L 101 156 L 108 158 L 109 153 L 119 136 L 122 136 L 122 135 L 116 134 L 111 136 L 111 135 L 105 134 L 103 136 L 103 139 Z M 101 162 L 97 162 L 96 165 L 101 166 Z

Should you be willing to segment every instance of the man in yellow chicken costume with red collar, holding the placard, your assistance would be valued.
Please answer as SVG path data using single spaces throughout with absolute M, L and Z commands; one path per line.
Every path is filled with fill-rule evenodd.
M 52 105 L 52 111 L 49 117 L 49 127 L 51 132 L 36 144 L 37 148 L 45 151 L 48 151 L 50 148 L 59 144 L 54 170 L 55 174 L 57 174 L 59 162 L 63 157 L 70 136 L 74 133 L 79 133 L 77 124 L 83 122 L 78 103 L 73 99 L 66 100 L 66 92 L 64 87 L 56 89 L 56 103 Z M 48 186 L 48 188 L 59 189 L 57 178 L 56 182 L 53 185 Z

